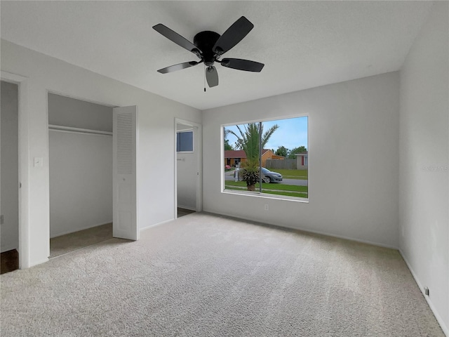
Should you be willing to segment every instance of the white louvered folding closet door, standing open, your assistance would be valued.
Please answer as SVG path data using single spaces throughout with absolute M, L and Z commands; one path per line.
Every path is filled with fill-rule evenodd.
M 114 107 L 113 235 L 139 239 L 137 196 L 138 107 Z

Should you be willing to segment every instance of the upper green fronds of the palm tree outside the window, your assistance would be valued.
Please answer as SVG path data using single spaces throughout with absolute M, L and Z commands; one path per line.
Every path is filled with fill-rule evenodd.
M 279 128 L 279 125 L 275 124 L 267 131 L 264 132 L 263 124 L 249 123 L 244 126 L 245 130 L 238 125 L 240 135 L 237 135 L 234 131 L 228 129 L 227 132 L 232 133 L 237 138 L 237 144 L 241 150 L 245 151 L 246 158 L 259 159 L 259 135 L 262 134 L 262 149 L 267 145 L 269 138 L 273 135 L 274 131 Z

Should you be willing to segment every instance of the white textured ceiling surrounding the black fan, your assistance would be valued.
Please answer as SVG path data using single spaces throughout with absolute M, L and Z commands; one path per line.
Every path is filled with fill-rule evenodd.
M 429 1 L 1 1 L 1 38 L 201 110 L 398 70 L 427 19 Z M 203 65 L 152 29 L 189 41 L 246 16 L 254 29 L 228 58 L 260 73 L 217 65 L 203 92 Z

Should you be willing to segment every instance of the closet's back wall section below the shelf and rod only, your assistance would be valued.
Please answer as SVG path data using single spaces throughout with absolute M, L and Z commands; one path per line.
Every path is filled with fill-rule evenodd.
M 49 132 L 50 237 L 112 223 L 112 136 Z

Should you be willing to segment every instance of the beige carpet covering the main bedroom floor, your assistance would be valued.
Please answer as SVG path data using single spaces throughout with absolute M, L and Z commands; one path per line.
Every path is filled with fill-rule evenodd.
M 2 336 L 443 336 L 397 251 L 193 213 L 1 275 Z

